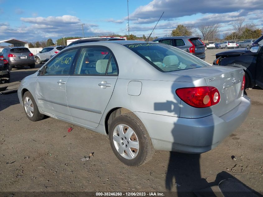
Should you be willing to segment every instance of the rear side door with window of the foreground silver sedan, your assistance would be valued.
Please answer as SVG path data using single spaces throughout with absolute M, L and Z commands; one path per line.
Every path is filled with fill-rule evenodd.
M 73 121 L 99 125 L 118 77 L 112 52 L 103 46 L 82 48 L 74 74 L 68 77 L 67 100 Z

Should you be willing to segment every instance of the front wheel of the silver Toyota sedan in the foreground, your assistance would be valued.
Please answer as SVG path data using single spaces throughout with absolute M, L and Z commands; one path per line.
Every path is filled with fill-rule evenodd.
M 35 122 L 44 119 L 45 115 L 40 114 L 35 100 L 29 91 L 25 92 L 23 96 L 23 106 L 29 120 Z

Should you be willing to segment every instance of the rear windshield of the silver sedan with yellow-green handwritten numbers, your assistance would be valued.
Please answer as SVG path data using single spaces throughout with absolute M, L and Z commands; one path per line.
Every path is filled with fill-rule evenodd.
M 142 43 L 124 45 L 161 72 L 171 72 L 209 66 L 210 64 L 175 47 Z

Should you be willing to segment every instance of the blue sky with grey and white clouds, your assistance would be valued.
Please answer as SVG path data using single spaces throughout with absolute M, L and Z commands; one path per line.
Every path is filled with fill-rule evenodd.
M 162 37 L 184 24 L 220 24 L 220 34 L 231 32 L 231 22 L 245 17 L 245 23 L 263 27 L 262 0 L 129 0 L 130 34 L 149 35 L 158 18 L 164 15 L 154 34 Z M 0 40 L 55 41 L 63 36 L 127 33 L 127 1 L 10 1 L 0 0 Z

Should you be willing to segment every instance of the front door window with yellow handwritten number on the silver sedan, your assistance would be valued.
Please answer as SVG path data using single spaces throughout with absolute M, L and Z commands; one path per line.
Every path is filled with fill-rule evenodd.
M 56 58 L 46 66 L 44 75 L 68 75 L 77 50 L 78 49 L 68 50 L 56 56 Z

